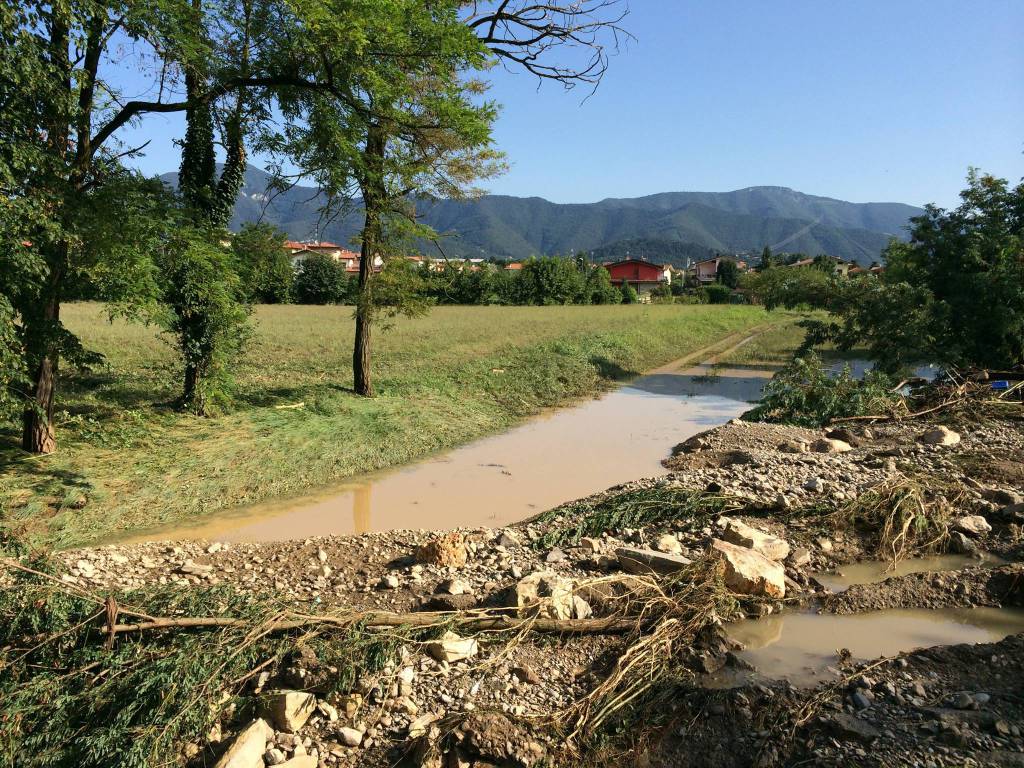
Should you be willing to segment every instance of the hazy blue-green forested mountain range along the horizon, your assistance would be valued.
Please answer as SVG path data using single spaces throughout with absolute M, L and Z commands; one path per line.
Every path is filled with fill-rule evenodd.
M 162 178 L 175 184 L 177 174 Z M 357 202 L 346 215 L 325 219 L 316 188 L 271 193 L 270 178 L 253 166 L 247 169 L 232 228 L 264 221 L 295 240 L 342 245 L 358 236 Z M 417 209 L 425 223 L 445 236 L 440 243 L 447 256 L 523 259 L 583 251 L 616 258 L 629 252 L 676 264 L 715 252 L 760 253 L 766 245 L 775 252 L 825 253 L 867 264 L 890 238 L 906 238 L 910 217 L 924 212 L 902 203 L 848 203 L 783 186 L 579 204 L 486 195 L 472 201 L 420 201 Z M 641 244 L 642 253 L 634 253 L 631 244 Z M 432 244 L 421 250 L 437 255 Z

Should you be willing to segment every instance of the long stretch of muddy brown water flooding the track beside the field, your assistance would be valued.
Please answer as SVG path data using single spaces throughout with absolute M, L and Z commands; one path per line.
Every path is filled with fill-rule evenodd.
M 221 512 L 131 541 L 270 542 L 396 528 L 500 526 L 611 485 L 761 395 L 771 371 L 670 364 L 594 400 L 314 496 Z

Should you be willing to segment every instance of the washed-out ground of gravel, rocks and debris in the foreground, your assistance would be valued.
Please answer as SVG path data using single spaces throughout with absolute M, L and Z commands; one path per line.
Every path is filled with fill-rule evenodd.
M 458 632 L 406 642 L 343 692 L 327 693 L 336 671 L 299 643 L 242 685 L 259 702 L 245 717 L 225 708 L 210 733 L 181 744 L 189 765 L 1024 765 L 1022 634 L 869 660 L 837 637 L 817 682 L 801 685 L 751 669 L 729 637 L 733 620 L 780 612 L 1016 615 L 1024 424 L 938 417 L 828 437 L 733 421 L 681 444 L 666 477 L 519 525 L 83 549 L 60 555 L 62 580 L 97 594 L 229 584 L 302 615 L 369 624 L 458 616 Z M 903 548 L 959 554 L 962 567 L 838 594 L 814 575 Z M 685 583 L 706 566 L 724 594 Z M 664 607 L 680 595 L 709 607 Z M 490 631 L 466 623 L 502 611 L 510 621 Z M 573 629 L 602 617 L 604 631 Z M 263 713 L 255 725 L 253 712 Z

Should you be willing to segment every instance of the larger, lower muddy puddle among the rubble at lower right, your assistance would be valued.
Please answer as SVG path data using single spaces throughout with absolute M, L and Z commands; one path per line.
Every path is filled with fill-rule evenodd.
M 760 676 L 794 685 L 830 679 L 837 650 L 848 648 L 856 660 L 891 656 L 934 645 L 985 643 L 1024 632 L 1024 610 L 1011 608 L 925 608 L 879 610 L 854 615 L 783 612 L 726 625 L 743 644 L 738 652 Z M 738 682 L 735 675 L 713 678 L 712 685 Z

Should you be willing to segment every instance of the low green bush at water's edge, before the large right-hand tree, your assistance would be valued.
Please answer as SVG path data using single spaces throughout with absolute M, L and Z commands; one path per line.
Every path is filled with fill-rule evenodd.
M 862 380 L 845 366 L 830 376 L 814 354 L 797 357 L 765 387 L 758 404 L 743 414 L 746 421 L 818 427 L 849 416 L 885 414 L 902 400 L 892 392 L 893 382 L 879 371 Z

